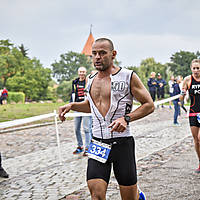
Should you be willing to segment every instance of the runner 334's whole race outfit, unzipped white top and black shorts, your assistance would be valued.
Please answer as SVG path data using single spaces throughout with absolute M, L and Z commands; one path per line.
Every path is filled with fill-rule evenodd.
M 137 183 L 135 163 L 135 142 L 131 136 L 130 126 L 124 132 L 113 132 L 108 126 L 116 119 L 123 117 L 132 110 L 133 95 L 131 93 L 130 80 L 133 71 L 120 68 L 111 78 L 110 108 L 105 117 L 96 108 L 91 96 L 90 88 L 96 74 L 88 79 L 88 100 L 92 113 L 92 137 L 93 139 L 111 145 L 108 160 L 105 163 L 92 158 L 88 159 L 87 180 L 100 178 L 109 182 L 111 164 L 119 185 L 130 186 Z

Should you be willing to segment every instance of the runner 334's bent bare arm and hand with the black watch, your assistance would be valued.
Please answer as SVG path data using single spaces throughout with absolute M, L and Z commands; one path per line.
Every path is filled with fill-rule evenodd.
M 128 114 L 131 117 L 131 121 L 143 118 L 154 111 L 155 107 L 152 98 L 135 73 L 131 78 L 131 93 L 141 103 L 140 107 Z M 123 132 L 127 127 L 127 122 L 124 117 L 121 117 L 113 121 L 109 127 L 112 127 L 111 132 Z

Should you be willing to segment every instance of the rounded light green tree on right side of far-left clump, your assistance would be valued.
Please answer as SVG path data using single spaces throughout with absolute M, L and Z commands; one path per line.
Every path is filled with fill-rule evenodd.
M 11 91 L 24 92 L 26 100 L 46 100 L 51 81 L 51 69 L 43 68 L 36 58 L 25 59 L 23 72 L 8 79 L 7 88 Z

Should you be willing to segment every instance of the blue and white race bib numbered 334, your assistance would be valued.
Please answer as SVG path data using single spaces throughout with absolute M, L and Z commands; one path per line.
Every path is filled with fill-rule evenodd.
M 88 149 L 88 157 L 105 163 L 110 154 L 111 145 L 92 140 Z

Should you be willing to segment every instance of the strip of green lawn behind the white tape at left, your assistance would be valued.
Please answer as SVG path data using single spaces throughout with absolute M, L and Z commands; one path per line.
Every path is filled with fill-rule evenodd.
M 64 105 L 64 103 L 30 103 L 0 105 L 0 122 L 48 114 L 54 112 L 54 110 L 58 112 L 58 108 L 61 105 Z M 50 120 L 52 121 L 53 119 Z

